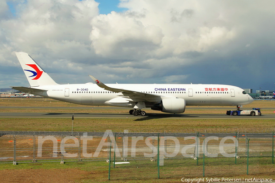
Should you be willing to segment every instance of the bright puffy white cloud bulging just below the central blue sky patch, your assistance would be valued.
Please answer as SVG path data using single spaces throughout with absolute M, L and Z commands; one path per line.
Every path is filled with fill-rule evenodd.
M 160 27 L 145 26 L 128 12 L 99 15 L 91 24 L 93 48 L 96 54 L 104 57 L 144 58 L 159 48 L 163 38 Z

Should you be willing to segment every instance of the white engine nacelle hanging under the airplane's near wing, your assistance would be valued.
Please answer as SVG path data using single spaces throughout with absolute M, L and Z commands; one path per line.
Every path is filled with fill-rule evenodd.
M 164 113 L 183 113 L 185 111 L 185 99 L 163 99 L 161 103 L 155 105 L 155 107 L 158 107 Z

